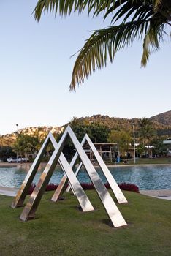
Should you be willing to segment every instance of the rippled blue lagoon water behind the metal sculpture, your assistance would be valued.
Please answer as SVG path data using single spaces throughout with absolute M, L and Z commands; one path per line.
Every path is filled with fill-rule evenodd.
M 44 167 L 40 167 L 34 178 L 37 183 Z M 96 167 L 102 181 L 107 182 L 102 170 Z M 135 165 L 109 167 L 115 181 L 136 184 L 139 189 L 171 189 L 171 165 Z M 0 167 L 0 186 L 19 188 L 28 170 L 18 167 Z M 61 167 L 56 167 L 50 183 L 58 184 L 63 176 Z M 80 182 L 90 183 L 88 174 L 82 167 L 78 175 Z

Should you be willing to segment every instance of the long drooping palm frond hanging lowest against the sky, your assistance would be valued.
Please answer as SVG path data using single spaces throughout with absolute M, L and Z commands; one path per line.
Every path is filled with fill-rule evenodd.
M 135 37 L 143 37 L 148 23 L 149 20 L 135 21 L 94 31 L 77 56 L 70 89 L 75 90 L 76 84 L 83 83 L 96 68 L 106 66 L 107 57 L 113 62 L 115 53 L 132 44 Z

